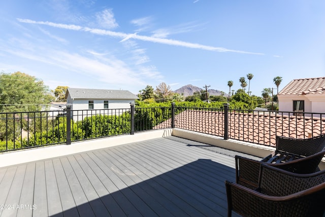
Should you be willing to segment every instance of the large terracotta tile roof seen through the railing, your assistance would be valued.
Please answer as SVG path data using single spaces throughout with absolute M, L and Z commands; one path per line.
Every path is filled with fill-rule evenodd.
M 171 119 L 155 129 L 171 126 Z M 175 127 L 223 137 L 223 112 L 185 110 L 175 115 Z M 269 112 L 229 114 L 229 138 L 275 146 L 276 136 L 308 138 L 325 134 L 325 118 L 270 114 Z

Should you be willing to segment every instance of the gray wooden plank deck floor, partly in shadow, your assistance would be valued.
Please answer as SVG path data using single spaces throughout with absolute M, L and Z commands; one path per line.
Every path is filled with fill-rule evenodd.
M 0 216 L 226 216 L 235 154 L 170 136 L 3 167 Z

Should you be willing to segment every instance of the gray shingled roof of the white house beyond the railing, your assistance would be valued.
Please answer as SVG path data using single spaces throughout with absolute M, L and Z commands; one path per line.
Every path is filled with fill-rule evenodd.
M 73 99 L 138 99 L 138 97 L 128 90 L 115 89 L 85 89 L 68 88 L 66 98 L 70 94 Z

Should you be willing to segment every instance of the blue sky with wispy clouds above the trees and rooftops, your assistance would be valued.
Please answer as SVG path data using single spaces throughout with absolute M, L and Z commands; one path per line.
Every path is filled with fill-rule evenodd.
M 276 76 L 279 89 L 325 76 L 324 11 L 323 0 L 1 1 L 0 70 L 134 94 L 161 82 L 228 92 L 251 73 L 261 96 Z

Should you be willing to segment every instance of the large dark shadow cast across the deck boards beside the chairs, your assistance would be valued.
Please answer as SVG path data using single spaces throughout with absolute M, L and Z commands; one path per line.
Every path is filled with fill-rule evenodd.
M 103 171 L 116 176 L 110 168 Z M 120 177 L 125 182 L 139 179 Z M 234 168 L 199 159 L 51 216 L 226 216 L 225 179 L 235 179 Z

